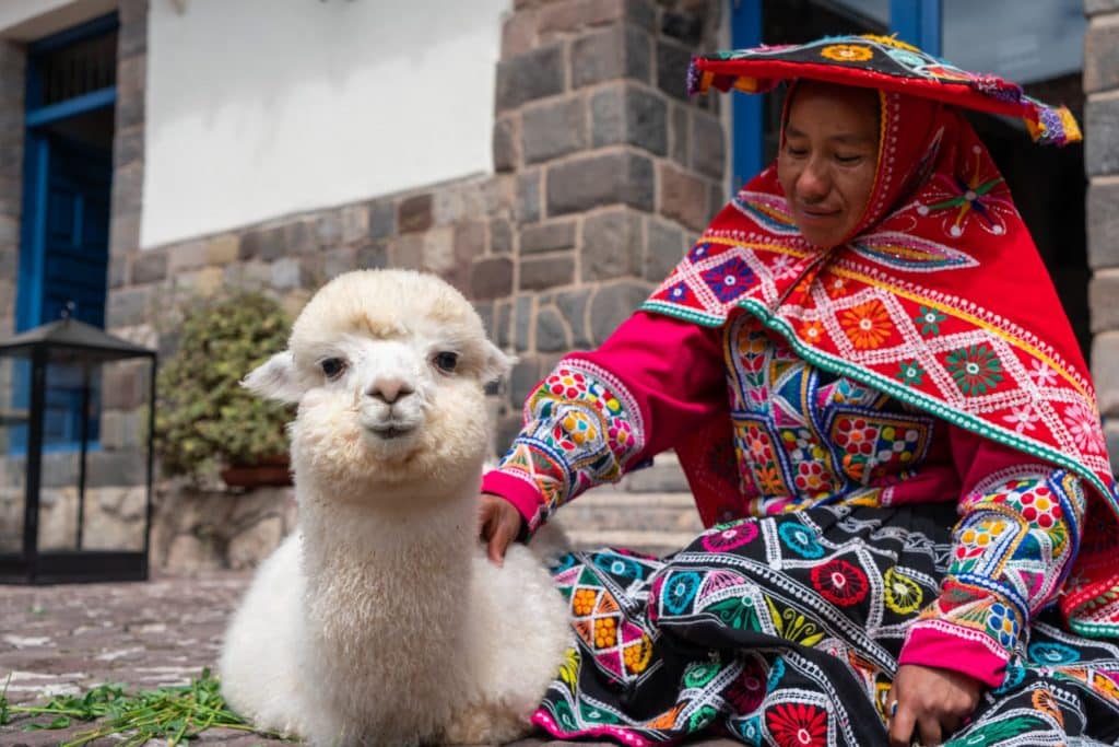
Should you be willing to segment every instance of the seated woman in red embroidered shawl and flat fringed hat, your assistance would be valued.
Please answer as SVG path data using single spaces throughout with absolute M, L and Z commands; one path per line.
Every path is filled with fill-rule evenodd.
M 1071 118 L 882 37 L 698 68 L 700 87 L 797 81 L 777 164 L 533 393 L 485 478 L 482 534 L 498 560 L 666 448 L 714 526 L 665 561 L 555 569 L 579 646 L 537 722 L 623 744 L 1119 738 L 1119 648 L 1079 635 L 1119 632 L 1091 384 L 1005 184 L 944 102 L 1053 141 Z

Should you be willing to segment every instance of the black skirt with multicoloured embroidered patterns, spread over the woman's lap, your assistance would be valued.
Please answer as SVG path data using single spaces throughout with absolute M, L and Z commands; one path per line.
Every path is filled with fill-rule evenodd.
M 574 644 L 534 721 L 623 745 L 884 745 L 908 624 L 948 567 L 950 504 L 820 506 L 721 524 L 655 559 L 553 569 Z M 1119 647 L 1043 613 L 950 745 L 1119 744 Z

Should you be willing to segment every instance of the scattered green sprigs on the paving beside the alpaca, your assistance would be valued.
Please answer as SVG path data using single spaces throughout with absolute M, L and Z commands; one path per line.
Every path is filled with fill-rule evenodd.
M 29 730 L 66 729 L 74 721 L 100 721 L 92 729 L 74 735 L 62 747 L 81 747 L 109 736 L 123 737 L 121 747 L 137 747 L 161 738 L 169 747 L 196 739 L 209 728 L 253 731 L 262 736 L 282 735 L 253 728 L 229 710 L 222 698 L 219 682 L 208 669 L 190 684 L 129 693 L 120 684 L 103 684 L 83 695 L 57 695 L 45 706 L 10 706 L 0 694 L 0 722 L 12 715 L 54 716 L 47 722 L 31 723 Z

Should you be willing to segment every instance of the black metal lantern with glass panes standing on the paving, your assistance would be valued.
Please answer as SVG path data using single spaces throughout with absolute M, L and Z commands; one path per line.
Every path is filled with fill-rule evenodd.
M 156 352 L 64 318 L 0 340 L 0 582 L 145 580 Z

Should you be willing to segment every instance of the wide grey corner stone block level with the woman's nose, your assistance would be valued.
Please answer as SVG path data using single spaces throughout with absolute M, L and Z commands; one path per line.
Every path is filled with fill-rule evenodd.
M 629 152 L 587 156 L 547 172 L 548 215 L 581 213 L 602 205 L 653 207 L 652 161 Z

